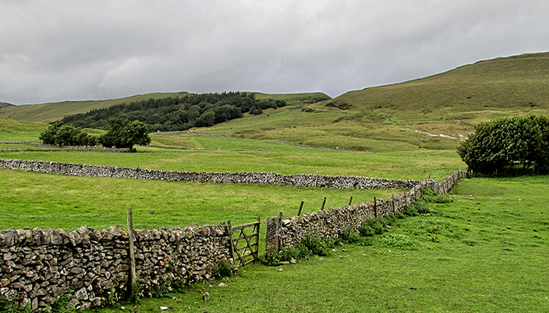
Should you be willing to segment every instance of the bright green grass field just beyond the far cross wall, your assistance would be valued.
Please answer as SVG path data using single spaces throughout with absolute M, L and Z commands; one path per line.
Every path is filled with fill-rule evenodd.
M 194 137 L 191 139 L 201 140 Z M 210 140 L 210 137 L 205 137 L 204 142 L 199 144 L 204 147 L 223 147 L 224 145 L 222 142 L 212 144 Z M 237 143 L 240 144 L 240 142 Z M 285 150 L 233 151 L 215 148 L 215 150 L 176 150 L 137 147 L 138 153 L 134 154 L 63 150 L 59 152 L 0 151 L 0 158 L 139 166 L 142 169 L 172 171 L 274 171 L 279 174 L 356 175 L 419 180 L 426 179 L 430 175 L 433 179 L 441 179 L 448 173 L 464 167 L 461 159 L 453 151 L 359 153 L 299 148 L 273 142 L 265 142 L 263 145 L 263 142 L 257 142 L 259 149 L 270 149 L 275 146 Z M 29 146 L 29 149 L 36 148 L 33 147 Z

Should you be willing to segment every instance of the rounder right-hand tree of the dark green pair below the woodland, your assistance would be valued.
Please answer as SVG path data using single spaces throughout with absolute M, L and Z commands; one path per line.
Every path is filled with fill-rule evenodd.
M 99 137 L 98 142 L 103 147 L 133 149 L 135 144 L 150 144 L 150 137 L 145 123 L 130 120 L 111 120 L 111 129 Z

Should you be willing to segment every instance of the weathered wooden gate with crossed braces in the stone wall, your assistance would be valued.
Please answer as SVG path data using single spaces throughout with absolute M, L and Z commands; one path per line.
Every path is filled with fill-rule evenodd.
M 237 267 L 259 260 L 257 252 L 260 247 L 260 224 L 261 218 L 257 216 L 257 222 L 231 227 L 231 255 Z M 247 234 L 246 231 L 250 228 L 251 231 Z

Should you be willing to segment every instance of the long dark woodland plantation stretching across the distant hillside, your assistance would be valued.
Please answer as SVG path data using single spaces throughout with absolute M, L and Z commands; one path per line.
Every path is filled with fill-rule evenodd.
M 252 92 L 190 94 L 113 105 L 63 118 L 76 127 L 108 129 L 113 118 L 144 122 L 150 132 L 209 127 L 242 117 L 261 114 L 267 108 L 284 107 L 284 100 L 256 100 Z

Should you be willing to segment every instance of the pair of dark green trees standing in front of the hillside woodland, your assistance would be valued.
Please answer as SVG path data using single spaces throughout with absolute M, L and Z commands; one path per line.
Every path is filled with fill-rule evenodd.
M 99 137 L 87 134 L 79 127 L 58 121 L 41 133 L 39 139 L 44 144 L 55 144 L 59 147 L 96 146 L 101 144 L 103 147 L 134 150 L 133 146 L 135 144 L 150 144 L 148 129 L 143 122 L 120 119 L 111 120 L 111 129 Z

